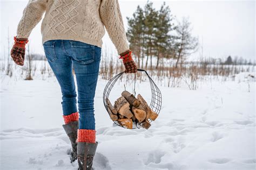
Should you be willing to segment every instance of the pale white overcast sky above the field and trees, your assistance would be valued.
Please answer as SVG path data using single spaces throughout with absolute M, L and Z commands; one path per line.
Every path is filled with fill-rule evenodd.
M 1 0 L 1 53 L 7 47 L 9 37 L 16 36 L 16 29 L 22 17 L 22 11 L 28 1 Z M 164 1 L 152 1 L 156 9 Z M 199 38 L 205 57 L 226 58 L 242 56 L 255 60 L 255 1 L 165 1 L 170 6 L 172 15 L 177 19 L 189 17 L 193 27 L 193 36 Z M 146 0 L 119 0 L 120 9 L 127 28 L 126 17 L 131 17 L 137 6 L 144 6 Z M 30 35 L 30 49 L 35 53 L 43 53 L 41 22 Z M 104 47 L 113 49 L 107 34 L 103 38 Z M 6 51 L 6 50 L 5 50 Z M 197 58 L 201 49 L 193 55 Z

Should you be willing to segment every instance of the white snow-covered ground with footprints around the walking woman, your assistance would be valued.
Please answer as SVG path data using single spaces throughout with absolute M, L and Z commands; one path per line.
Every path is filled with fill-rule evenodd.
M 99 79 L 95 97 L 99 145 L 93 166 L 96 170 L 255 169 L 255 81 L 249 83 L 248 92 L 248 83 L 241 81 L 244 75 L 235 81 L 200 83 L 196 91 L 159 86 L 163 105 L 149 130 L 113 125 L 102 99 L 107 81 Z M 1 84 L 0 169 L 77 169 L 77 161 L 70 164 L 67 154 L 70 142 L 62 129 L 56 78 L 24 81 L 1 73 Z M 123 87 L 119 83 L 112 90 L 112 102 Z M 136 86 L 147 101 L 149 90 L 147 82 Z

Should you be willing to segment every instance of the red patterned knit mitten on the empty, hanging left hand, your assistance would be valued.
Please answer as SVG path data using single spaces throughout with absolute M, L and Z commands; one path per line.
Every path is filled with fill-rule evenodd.
M 24 65 L 25 60 L 25 45 L 28 43 L 28 38 L 16 38 L 14 37 L 14 46 L 11 48 L 11 58 L 19 65 Z

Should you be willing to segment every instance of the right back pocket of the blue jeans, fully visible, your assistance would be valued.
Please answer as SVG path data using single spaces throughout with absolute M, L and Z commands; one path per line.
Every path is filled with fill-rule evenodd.
M 81 41 L 70 41 L 75 58 L 83 65 L 95 60 L 95 46 Z

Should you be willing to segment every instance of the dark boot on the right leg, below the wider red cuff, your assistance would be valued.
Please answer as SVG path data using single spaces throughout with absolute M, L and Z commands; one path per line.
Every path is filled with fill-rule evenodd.
M 77 156 L 78 156 L 78 170 L 93 170 L 92 162 L 93 157 L 96 153 L 96 148 L 98 142 L 96 143 L 86 143 L 78 142 L 77 143 Z

